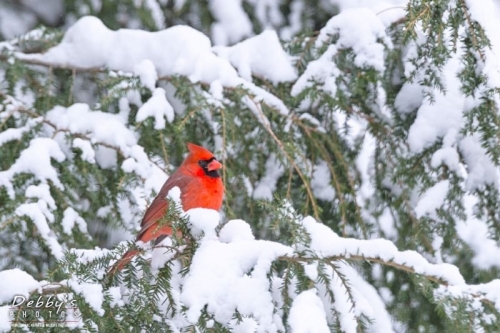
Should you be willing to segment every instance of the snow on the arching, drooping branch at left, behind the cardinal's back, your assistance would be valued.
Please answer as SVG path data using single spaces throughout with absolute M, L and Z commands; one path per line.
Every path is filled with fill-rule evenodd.
M 158 192 L 166 180 L 164 166 L 153 161 L 138 145 L 137 133 L 120 115 L 91 110 L 87 104 L 74 104 L 68 108 L 56 106 L 43 114 L 10 95 L 0 92 L 0 96 L 3 97 L 0 121 L 15 119 L 19 124 L 25 124 L 0 132 L 0 146 L 19 140 L 24 135 L 35 134 L 15 162 L 0 171 L 0 188 L 5 188 L 9 198 L 14 199 L 18 195 L 26 198 L 7 216 L 8 221 L 21 221 L 20 218 L 31 220 L 37 234 L 56 259 L 62 259 L 67 249 L 60 238 L 66 237 L 62 234 L 71 235 L 77 227 L 85 237 L 89 237 L 87 223 L 78 212 L 82 210 L 78 200 L 73 206 L 75 210 L 67 206 L 68 202 L 57 201 L 53 197 L 54 193 L 63 191 L 72 193 L 73 197 L 78 195 L 79 189 L 74 187 L 78 183 L 68 185 L 60 174 L 60 166 L 56 164 L 74 161 L 72 149 L 80 150 L 81 159 L 89 164 L 97 164 L 102 169 L 121 168 L 126 173 L 136 174 L 143 185 L 131 191 L 139 204 L 142 200 L 145 205 L 143 193 Z M 120 165 L 117 155 L 121 156 Z M 30 178 L 39 184 L 32 184 L 31 179 L 26 184 L 19 183 L 17 179 L 23 174 L 31 175 Z M 33 202 L 33 199 L 36 201 Z M 57 214 L 59 209 L 64 211 L 63 216 Z M 125 215 L 128 211 L 122 209 L 120 213 Z M 19 227 L 23 223 L 16 222 Z

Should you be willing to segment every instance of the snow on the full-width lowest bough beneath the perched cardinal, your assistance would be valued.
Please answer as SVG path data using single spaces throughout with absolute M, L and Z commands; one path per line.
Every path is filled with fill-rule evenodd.
M 343 331 L 356 332 L 362 317 L 373 319 L 373 325 L 379 330 L 393 331 L 380 296 L 355 269 L 346 264 L 347 261 L 376 262 L 418 274 L 439 285 L 435 290 L 438 298 L 469 297 L 500 311 L 500 280 L 467 285 L 453 265 L 431 264 L 417 252 L 399 251 L 392 242 L 383 239 L 339 237 L 312 217 L 294 222 L 299 230 L 308 234 L 308 240 L 284 245 L 256 240 L 250 226 L 242 220 L 227 222 L 217 233 L 220 216 L 212 210 L 197 208 L 182 214 L 191 232 L 197 235 L 193 238 L 197 244 L 193 247 L 192 257 L 187 261 L 177 260 L 182 252 L 183 255 L 188 254 L 190 246 L 178 247 L 171 240 L 167 242 L 170 245 L 165 243 L 166 240 L 152 252 L 145 248 L 145 258 L 156 264 L 152 267 L 153 280 L 148 277 L 143 282 L 153 283 L 154 288 L 154 276 L 159 279 L 167 274 L 163 283 L 168 283 L 169 289 L 160 292 L 156 298 L 140 300 L 156 302 L 164 317 L 156 320 L 168 320 L 178 329 L 213 320 L 231 329 L 254 327 L 276 332 L 289 326 L 292 330 L 301 331 L 308 327 L 311 329 L 302 320 L 304 313 L 300 310 L 307 308 L 308 318 L 317 318 L 314 327 L 318 332 L 327 332 L 328 325 L 335 321 L 340 322 Z M 122 281 L 121 291 L 102 280 L 106 267 L 112 264 L 110 260 L 119 257 L 124 249 L 73 249 L 63 263 L 69 265 L 66 269 L 70 270 L 78 265 L 87 265 L 86 269 L 77 269 L 85 272 L 86 278 L 78 273 L 68 280 L 49 283 L 37 282 L 19 269 L 1 272 L 3 278 L 17 282 L 9 290 L 0 291 L 0 302 L 9 303 L 13 295 L 18 294 L 28 297 L 30 294 L 70 292 L 83 297 L 87 305 L 79 303 L 80 307 L 89 306 L 99 316 L 104 315 L 110 306 L 115 308 L 113 311 L 118 311 L 117 306 L 136 306 L 135 302 L 139 299 L 134 295 L 144 292 L 141 291 L 142 284 L 125 281 L 130 281 L 136 274 L 138 278 L 149 276 L 146 271 L 140 273 L 141 261 L 132 262 L 132 268 L 123 273 L 124 280 L 118 280 Z M 176 251 L 172 252 L 172 249 Z M 288 268 L 277 270 L 277 262 L 288 263 Z M 92 272 L 89 268 L 93 263 L 97 263 L 97 269 Z M 185 264 L 188 267 L 183 267 Z M 311 281 L 306 289 L 297 285 L 298 280 L 293 278 L 297 274 L 305 274 Z M 284 310 L 280 307 L 286 303 L 290 307 L 285 322 L 282 317 Z M 9 305 L 0 307 L 0 323 L 4 326 L 6 306 Z M 4 317 L 1 317 L 2 314 Z M 236 320 L 235 316 L 241 320 Z

